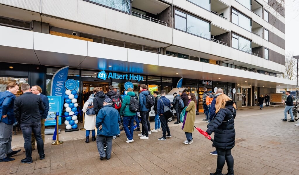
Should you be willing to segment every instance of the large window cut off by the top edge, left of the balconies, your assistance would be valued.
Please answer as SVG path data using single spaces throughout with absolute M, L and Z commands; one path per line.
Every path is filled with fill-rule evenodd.
M 85 0 L 130 13 L 131 0 Z

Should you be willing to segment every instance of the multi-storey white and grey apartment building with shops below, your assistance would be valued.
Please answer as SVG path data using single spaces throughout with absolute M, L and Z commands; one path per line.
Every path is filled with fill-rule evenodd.
M 68 78 L 78 82 L 79 93 L 109 85 L 123 93 L 128 81 L 137 93 L 140 84 L 169 92 L 183 78 L 181 87 L 196 94 L 197 109 L 203 87 L 222 88 L 238 106 L 254 106 L 260 94 L 296 86 L 277 77 L 285 72 L 285 18 L 277 5 L 0 0 L 0 84 L 29 82 L 49 92 L 53 74 L 69 66 Z

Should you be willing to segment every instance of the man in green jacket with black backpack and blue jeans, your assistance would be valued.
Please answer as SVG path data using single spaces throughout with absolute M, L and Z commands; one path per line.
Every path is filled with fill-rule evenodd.
M 120 116 L 123 116 L 123 130 L 125 130 L 127 136 L 127 143 L 134 141 L 134 117 L 138 111 L 138 107 L 138 97 L 135 96 L 132 88 L 128 88 L 127 95 L 123 98 L 123 103 L 120 108 Z

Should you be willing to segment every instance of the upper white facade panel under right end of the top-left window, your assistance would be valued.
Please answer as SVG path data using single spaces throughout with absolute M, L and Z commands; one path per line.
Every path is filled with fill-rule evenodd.
M 106 8 L 106 28 L 119 31 L 130 32 L 130 15 Z

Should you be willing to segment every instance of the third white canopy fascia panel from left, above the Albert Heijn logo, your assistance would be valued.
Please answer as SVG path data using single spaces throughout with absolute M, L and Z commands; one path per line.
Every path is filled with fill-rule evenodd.
M 110 60 L 128 61 L 128 49 L 89 41 L 87 56 L 106 58 Z

